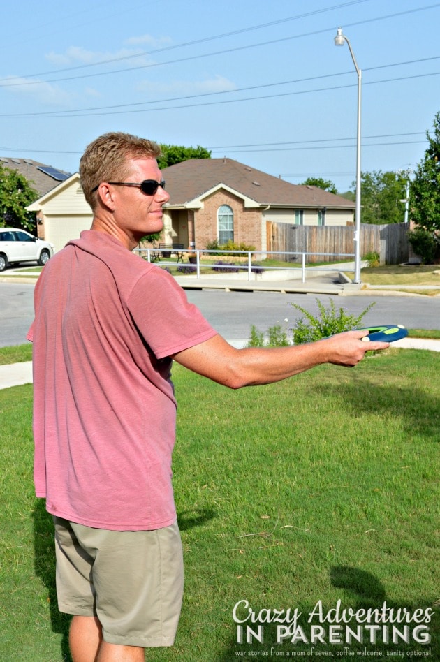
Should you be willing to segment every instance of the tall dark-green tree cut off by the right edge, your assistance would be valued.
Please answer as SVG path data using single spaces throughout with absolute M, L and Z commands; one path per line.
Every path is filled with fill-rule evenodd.
M 433 127 L 432 136 L 426 132 L 429 145 L 409 189 L 411 220 L 428 232 L 440 230 L 440 112 Z

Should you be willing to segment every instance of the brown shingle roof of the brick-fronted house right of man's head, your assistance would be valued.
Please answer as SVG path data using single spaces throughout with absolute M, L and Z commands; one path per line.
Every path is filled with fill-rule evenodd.
M 351 200 L 335 196 L 317 186 L 290 184 L 233 159 L 189 159 L 164 168 L 162 174 L 166 181 L 166 191 L 170 193 L 169 205 L 172 207 L 200 198 L 219 184 L 226 184 L 260 205 L 355 207 Z

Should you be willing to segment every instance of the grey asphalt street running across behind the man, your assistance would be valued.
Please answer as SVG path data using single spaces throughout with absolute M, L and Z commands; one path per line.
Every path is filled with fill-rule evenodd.
M 34 317 L 34 285 L 0 283 L 1 327 L 0 346 L 19 345 Z M 249 338 L 254 324 L 261 331 L 277 323 L 292 327 L 301 314 L 289 303 L 296 303 L 311 314 L 318 313 L 316 299 L 325 307 L 329 299 L 336 308 L 344 307 L 355 316 L 372 302 L 374 307 L 362 319 L 362 325 L 403 324 L 412 329 L 440 330 L 440 297 L 417 296 L 332 296 L 278 294 L 267 292 L 225 292 L 223 290 L 187 290 L 191 303 L 196 304 L 208 321 L 228 340 Z M 145 301 L 148 305 L 149 301 Z

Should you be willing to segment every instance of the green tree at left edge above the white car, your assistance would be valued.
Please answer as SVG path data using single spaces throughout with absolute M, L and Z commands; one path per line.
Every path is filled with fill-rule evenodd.
M 35 213 L 26 207 L 38 193 L 17 170 L 0 165 L 0 226 L 35 230 Z

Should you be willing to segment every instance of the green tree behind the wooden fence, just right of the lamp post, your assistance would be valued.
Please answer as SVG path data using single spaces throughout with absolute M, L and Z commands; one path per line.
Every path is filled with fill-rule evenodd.
M 355 187 L 355 182 L 351 184 Z M 362 223 L 385 225 L 404 221 L 406 175 L 404 172 L 362 172 L 360 200 Z

